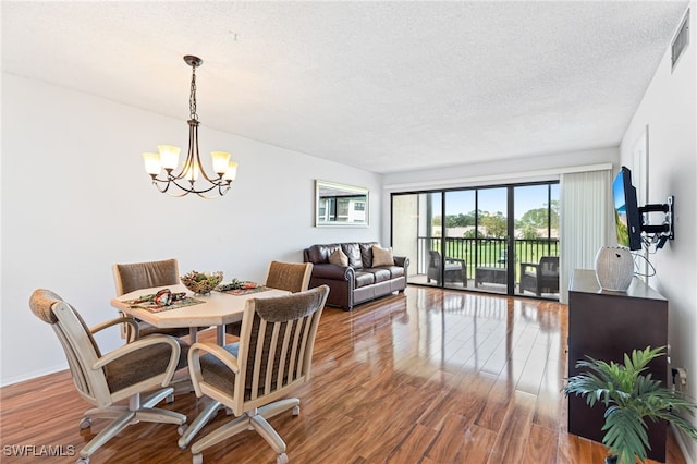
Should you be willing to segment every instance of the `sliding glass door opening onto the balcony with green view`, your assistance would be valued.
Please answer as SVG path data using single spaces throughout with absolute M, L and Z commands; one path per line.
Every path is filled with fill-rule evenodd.
M 557 298 L 559 184 L 392 194 L 409 283 Z

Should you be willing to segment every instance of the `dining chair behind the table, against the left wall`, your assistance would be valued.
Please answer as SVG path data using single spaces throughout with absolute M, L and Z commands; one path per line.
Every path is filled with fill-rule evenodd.
M 117 264 L 113 265 L 112 269 L 113 281 L 117 286 L 117 296 L 121 296 L 138 289 L 176 285 L 179 283 L 179 262 L 176 259 Z M 172 337 L 184 337 L 188 335 L 189 332 L 188 328 L 186 327 L 160 329 L 143 320 L 136 320 L 138 321 L 138 332 L 140 333 L 140 337 L 149 335 L 151 333 L 164 333 Z M 126 339 L 129 338 L 129 333 L 123 333 L 123 337 Z

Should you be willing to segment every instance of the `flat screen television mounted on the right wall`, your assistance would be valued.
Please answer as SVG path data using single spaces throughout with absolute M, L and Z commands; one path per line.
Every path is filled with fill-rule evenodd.
M 636 204 L 636 188 L 632 185 L 632 171 L 624 166 L 612 183 L 612 196 L 617 245 L 641 249 L 641 215 Z

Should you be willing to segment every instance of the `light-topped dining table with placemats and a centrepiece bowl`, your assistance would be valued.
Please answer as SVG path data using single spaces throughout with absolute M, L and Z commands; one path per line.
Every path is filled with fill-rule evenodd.
M 185 293 L 185 296 L 183 300 L 173 301 L 170 305 L 152 304 L 151 296 L 163 289 L 169 289 L 172 294 Z M 217 342 L 219 345 L 224 345 L 225 325 L 242 320 L 248 300 L 283 296 L 290 293 L 285 290 L 257 286 L 234 291 L 213 290 L 209 294 L 197 295 L 179 283 L 134 290 L 112 298 L 111 306 L 160 329 L 187 327 L 192 343 L 197 341 L 199 328 L 215 326 Z M 146 301 L 146 303 L 138 303 L 139 301 Z

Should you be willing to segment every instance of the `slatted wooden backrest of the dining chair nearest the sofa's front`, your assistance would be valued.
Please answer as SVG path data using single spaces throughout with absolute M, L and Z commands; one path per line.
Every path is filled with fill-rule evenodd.
M 329 286 L 247 301 L 242 319 L 235 403 L 266 404 L 310 378 L 315 338 Z M 242 406 L 240 401 L 247 403 Z M 253 406 L 256 407 L 256 406 Z

